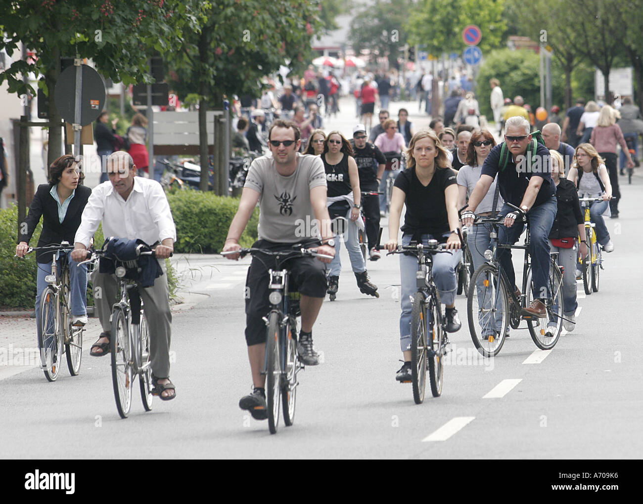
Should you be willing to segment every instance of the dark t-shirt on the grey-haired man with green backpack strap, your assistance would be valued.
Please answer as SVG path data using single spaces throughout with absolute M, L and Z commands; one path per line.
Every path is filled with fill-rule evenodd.
M 519 163 L 520 169 L 516 168 L 516 164 L 510 153 L 507 166 L 503 171 L 499 172 L 501 148 L 502 143 L 491 149 L 491 152 L 489 152 L 487 159 L 485 159 L 482 165 L 482 173 L 480 173 L 480 175 L 489 175 L 491 178 L 495 178 L 496 174 L 498 175 L 500 195 L 502 195 L 505 202 L 516 205 L 517 207 L 520 206 L 523 196 L 525 196 L 527 186 L 529 186 L 529 180 L 534 176 L 544 179 L 538 191 L 538 196 L 536 196 L 534 206 L 543 204 L 556 194 L 556 184 L 554 184 L 554 180 L 552 180 L 551 160 L 547 147 L 543 144 L 538 144 L 538 148 L 536 149 L 537 161 L 532 163 L 531 166 L 529 166 L 527 162 Z M 531 146 L 527 148 L 527 152 L 529 153 L 529 155 L 526 156 L 527 158 L 531 156 L 530 148 Z

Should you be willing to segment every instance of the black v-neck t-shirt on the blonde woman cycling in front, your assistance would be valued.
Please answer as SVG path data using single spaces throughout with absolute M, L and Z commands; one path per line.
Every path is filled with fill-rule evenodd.
M 428 186 L 415 175 L 415 168 L 402 171 L 395 178 L 394 187 L 404 191 L 406 214 L 404 214 L 404 234 L 432 234 L 439 236 L 449 232 L 449 217 L 446 211 L 444 189 L 457 183 L 457 174 L 451 168 L 436 168 Z

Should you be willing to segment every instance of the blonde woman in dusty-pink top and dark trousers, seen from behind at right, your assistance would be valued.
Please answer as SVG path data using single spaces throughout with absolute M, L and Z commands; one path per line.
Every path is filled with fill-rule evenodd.
M 616 120 L 620 119 L 618 110 L 612 109 L 610 105 L 604 105 L 596 121 L 596 126 L 592 130 L 590 143 L 597 150 L 599 155 L 605 160 L 605 166 L 610 174 L 611 191 L 613 199 L 610 200 L 611 218 L 619 218 L 619 173 L 617 171 L 616 146 L 620 145 L 622 152 L 627 159 L 626 166 L 634 168 L 634 161 L 629 155 L 628 144 L 625 142 L 623 132 Z

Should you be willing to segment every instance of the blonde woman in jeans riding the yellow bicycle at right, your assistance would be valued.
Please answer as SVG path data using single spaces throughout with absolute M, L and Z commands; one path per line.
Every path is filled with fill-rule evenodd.
M 612 196 L 610 175 L 604 159 L 592 144 L 577 146 L 574 164 L 569 170 L 567 180 L 575 184 L 581 197 L 602 198 L 602 202 L 590 204 L 590 218 L 596 225 L 596 240 L 605 252 L 613 252 L 614 244 L 611 243 L 610 233 L 603 218 L 604 214 L 610 215 L 609 201 Z

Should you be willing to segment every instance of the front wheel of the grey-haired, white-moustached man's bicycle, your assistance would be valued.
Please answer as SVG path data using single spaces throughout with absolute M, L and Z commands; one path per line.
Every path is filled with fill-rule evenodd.
M 505 342 L 509 324 L 509 295 L 500 272 L 484 263 L 471 277 L 467 296 L 471 341 L 478 352 L 493 357 Z

